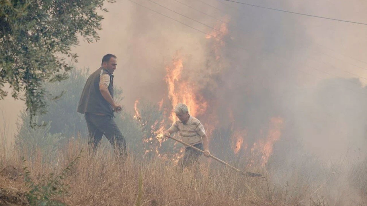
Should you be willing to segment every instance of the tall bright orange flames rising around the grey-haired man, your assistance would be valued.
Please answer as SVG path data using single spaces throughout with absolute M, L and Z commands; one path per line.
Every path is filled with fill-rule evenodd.
M 189 108 L 190 115 L 194 117 L 196 115 L 203 114 L 207 109 L 207 102 L 198 95 L 196 91 L 196 86 L 193 82 L 188 80 L 182 80 L 181 74 L 183 71 L 183 59 L 179 58 L 178 55 L 172 59 L 172 63 L 166 66 L 166 83 L 168 88 L 168 99 L 170 111 L 166 111 L 166 106 L 164 103 L 164 98 L 157 103 L 158 111 L 162 113 L 163 118 L 161 120 L 156 120 L 153 124 L 149 123 L 149 117 L 141 117 L 141 113 L 138 109 L 139 100 L 135 101 L 134 110 L 135 115 L 134 118 L 139 121 L 142 126 L 142 130 L 145 134 L 143 138 L 143 143 L 145 144 L 145 153 L 156 153 L 158 157 L 163 157 L 166 155 L 161 155 L 159 152 L 159 148 L 162 146 L 162 143 L 167 139 L 163 137 L 163 132 L 166 130 L 172 122 L 177 120 L 177 117 L 174 113 L 174 107 L 178 103 L 184 103 Z M 165 121 L 170 119 L 171 121 Z M 147 124 L 150 124 L 147 125 Z M 147 128 L 149 126 L 149 129 Z M 179 146 L 179 152 L 175 155 L 171 155 L 171 159 L 174 161 L 178 161 L 179 158 L 183 156 L 184 147 L 180 144 L 175 143 L 175 146 Z M 174 148 L 175 149 L 175 148 Z

